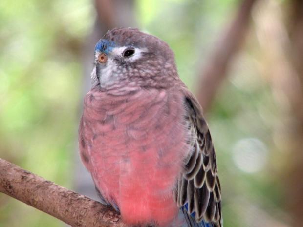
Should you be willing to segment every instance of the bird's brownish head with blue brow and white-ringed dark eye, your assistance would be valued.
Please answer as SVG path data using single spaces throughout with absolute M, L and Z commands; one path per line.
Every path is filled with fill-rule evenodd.
M 178 77 L 168 44 L 134 28 L 112 29 L 97 42 L 91 76 L 103 90 L 161 87 Z

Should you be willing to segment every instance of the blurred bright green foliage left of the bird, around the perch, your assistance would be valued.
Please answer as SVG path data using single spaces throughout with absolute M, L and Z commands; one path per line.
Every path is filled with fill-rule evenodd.
M 0 2 L 0 157 L 70 187 L 88 0 Z M 18 217 L 18 219 L 16 219 Z M 62 222 L 0 195 L 0 226 Z

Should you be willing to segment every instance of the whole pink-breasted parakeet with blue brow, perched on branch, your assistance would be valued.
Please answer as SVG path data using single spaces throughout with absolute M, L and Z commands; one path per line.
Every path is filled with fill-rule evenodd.
M 174 53 L 137 28 L 97 42 L 79 148 L 101 203 L 129 226 L 222 227 L 208 124 Z

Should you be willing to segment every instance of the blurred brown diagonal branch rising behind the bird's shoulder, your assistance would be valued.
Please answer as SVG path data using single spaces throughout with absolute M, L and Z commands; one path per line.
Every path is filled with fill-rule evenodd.
M 216 42 L 209 61 L 206 62 L 199 78 L 197 99 L 204 110 L 212 103 L 220 84 L 227 76 L 227 70 L 233 56 L 237 53 L 244 41 L 249 27 L 251 11 L 257 0 L 243 0 L 240 4 L 234 20 L 222 33 Z

